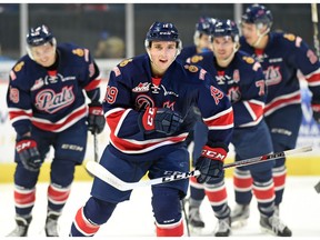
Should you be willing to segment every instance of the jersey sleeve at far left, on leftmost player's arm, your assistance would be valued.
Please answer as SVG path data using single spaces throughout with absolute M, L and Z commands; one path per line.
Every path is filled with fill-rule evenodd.
M 31 130 L 32 118 L 30 89 L 28 89 L 27 77 L 23 76 L 21 68 L 23 68 L 23 64 L 19 62 L 10 71 L 7 91 L 9 119 L 19 136 L 23 136 Z

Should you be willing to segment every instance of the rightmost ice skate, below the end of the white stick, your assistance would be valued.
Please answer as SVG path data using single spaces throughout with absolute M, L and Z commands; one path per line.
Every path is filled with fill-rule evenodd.
M 280 220 L 277 214 L 271 217 L 260 217 L 260 226 L 262 231 L 279 236 L 279 237 L 291 237 L 291 230 Z

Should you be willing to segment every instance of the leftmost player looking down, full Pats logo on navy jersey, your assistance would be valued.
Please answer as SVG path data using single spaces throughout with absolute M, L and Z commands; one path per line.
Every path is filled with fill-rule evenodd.
M 53 147 L 44 230 L 48 237 L 58 237 L 58 219 L 71 190 L 74 167 L 84 158 L 87 131 L 100 133 L 106 124 L 99 102 L 100 71 L 87 49 L 57 46 L 43 24 L 29 30 L 27 51 L 10 71 L 7 94 L 17 132 L 17 228 L 9 236 L 27 236 L 40 168 Z M 90 98 L 89 116 L 83 90 Z

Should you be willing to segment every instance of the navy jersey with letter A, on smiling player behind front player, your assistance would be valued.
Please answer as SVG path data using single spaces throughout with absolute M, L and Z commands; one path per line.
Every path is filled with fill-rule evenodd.
M 190 62 L 206 69 L 232 103 L 234 127 L 258 124 L 263 117 L 266 80 L 259 62 L 238 51 L 227 68 L 217 67 L 213 52 L 190 58 Z

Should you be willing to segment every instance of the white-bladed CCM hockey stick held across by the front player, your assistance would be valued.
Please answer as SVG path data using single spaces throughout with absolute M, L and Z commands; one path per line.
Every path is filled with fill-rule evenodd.
M 260 156 L 260 157 L 250 158 L 250 159 L 246 159 L 242 161 L 236 161 L 232 163 L 224 164 L 223 169 L 241 167 L 241 166 L 249 166 L 249 164 L 257 164 L 257 163 L 261 163 L 261 162 L 266 162 L 266 161 L 270 161 L 270 160 L 276 160 L 279 158 L 287 157 L 287 156 L 307 152 L 307 151 L 311 151 L 311 150 L 312 150 L 312 147 L 303 147 L 303 148 L 291 149 L 288 151 L 281 151 L 281 152 L 277 152 L 277 153 L 264 154 L 264 156 Z M 154 186 L 154 184 L 177 181 L 177 180 L 181 180 L 181 179 L 197 177 L 200 174 L 199 170 L 193 170 L 193 171 L 189 171 L 189 172 L 180 172 L 180 173 L 176 173 L 176 174 L 171 174 L 171 176 L 163 176 L 161 178 L 139 181 L 139 182 L 124 182 L 121 179 L 119 179 L 118 177 L 116 177 L 114 174 L 112 174 L 110 171 L 108 171 L 106 168 L 103 168 L 98 162 L 89 161 L 87 163 L 87 169 L 93 176 L 96 176 L 97 178 L 101 179 L 102 181 L 111 184 L 112 187 L 119 189 L 120 191 L 128 191 L 128 190 L 132 190 L 132 189 L 138 188 L 138 187 L 147 187 L 147 186 Z

